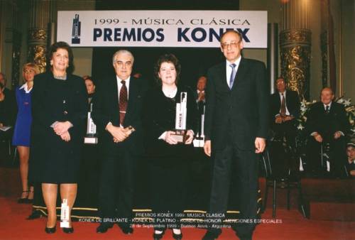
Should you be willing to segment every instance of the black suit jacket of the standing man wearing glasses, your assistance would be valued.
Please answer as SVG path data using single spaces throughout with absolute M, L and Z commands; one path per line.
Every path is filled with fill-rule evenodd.
M 204 134 L 212 148 L 227 141 L 254 149 L 255 138 L 267 138 L 269 93 L 263 62 L 241 58 L 232 89 L 226 83 L 226 62 L 209 69 Z M 228 137 L 229 136 L 229 137 Z

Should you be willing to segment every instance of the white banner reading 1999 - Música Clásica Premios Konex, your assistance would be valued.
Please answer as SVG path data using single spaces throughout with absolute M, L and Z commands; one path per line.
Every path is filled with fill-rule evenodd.
M 73 47 L 216 48 L 227 29 L 267 48 L 266 11 L 58 11 L 57 40 Z

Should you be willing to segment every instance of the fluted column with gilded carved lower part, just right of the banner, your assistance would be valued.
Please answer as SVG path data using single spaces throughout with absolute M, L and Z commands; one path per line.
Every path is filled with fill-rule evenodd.
M 308 1 L 282 1 L 280 10 L 281 75 L 289 89 L 309 99 L 311 31 Z

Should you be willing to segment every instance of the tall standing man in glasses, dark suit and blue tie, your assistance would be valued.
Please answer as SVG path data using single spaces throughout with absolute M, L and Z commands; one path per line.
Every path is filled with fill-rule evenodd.
M 266 68 L 263 62 L 241 58 L 241 33 L 226 31 L 220 42 L 226 61 L 207 74 L 204 152 L 214 158 L 209 212 L 226 214 L 233 173 L 240 217 L 248 220 L 234 230 L 240 239 L 251 239 L 258 212 L 257 153 L 264 151 L 268 132 Z M 221 232 L 211 226 L 203 239 L 217 239 Z

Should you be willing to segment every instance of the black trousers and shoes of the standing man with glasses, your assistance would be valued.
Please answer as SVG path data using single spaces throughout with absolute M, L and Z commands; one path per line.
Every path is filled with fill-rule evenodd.
M 257 219 L 258 211 L 258 156 L 253 150 L 242 151 L 231 145 L 212 154 L 214 169 L 209 212 L 217 215 L 226 214 L 233 172 L 238 186 L 240 219 L 252 219 L 249 223 L 244 221 L 234 225 L 233 229 L 239 237 L 251 237 L 256 225 L 253 220 Z M 209 231 L 217 229 L 218 227 L 210 226 Z

